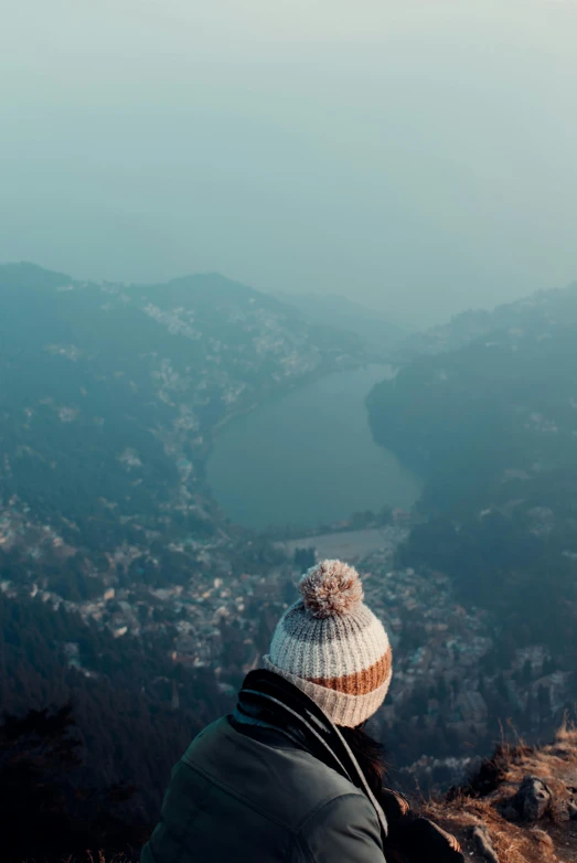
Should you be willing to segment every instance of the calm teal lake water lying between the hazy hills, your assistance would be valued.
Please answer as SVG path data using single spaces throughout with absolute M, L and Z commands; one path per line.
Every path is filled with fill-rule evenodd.
M 385 503 L 407 509 L 421 482 L 371 436 L 364 399 L 392 372 L 339 372 L 237 417 L 216 438 L 209 482 L 238 524 L 319 523 Z

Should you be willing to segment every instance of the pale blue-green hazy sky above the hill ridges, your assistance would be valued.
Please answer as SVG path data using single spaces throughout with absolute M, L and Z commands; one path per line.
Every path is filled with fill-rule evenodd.
M 0 260 L 444 319 L 577 279 L 577 0 L 7 0 Z

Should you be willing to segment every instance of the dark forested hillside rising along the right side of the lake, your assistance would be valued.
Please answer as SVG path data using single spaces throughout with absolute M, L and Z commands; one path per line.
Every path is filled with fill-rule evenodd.
M 488 317 L 506 327 L 416 359 L 370 395 L 375 438 L 427 479 L 427 521 L 402 560 L 451 575 L 514 643 L 544 641 L 573 668 L 577 287 Z

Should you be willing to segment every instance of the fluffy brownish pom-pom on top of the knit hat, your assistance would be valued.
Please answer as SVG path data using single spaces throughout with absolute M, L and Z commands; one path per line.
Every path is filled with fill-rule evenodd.
M 364 598 L 356 569 L 341 561 L 321 561 L 299 582 L 304 608 L 317 618 L 351 614 Z

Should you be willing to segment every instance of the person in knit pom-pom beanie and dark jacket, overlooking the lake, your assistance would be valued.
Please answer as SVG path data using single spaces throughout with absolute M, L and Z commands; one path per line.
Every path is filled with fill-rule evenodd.
M 323 561 L 299 583 L 234 714 L 173 768 L 141 863 L 462 861 L 457 841 L 383 788 L 364 728 L 393 653 L 356 571 Z

